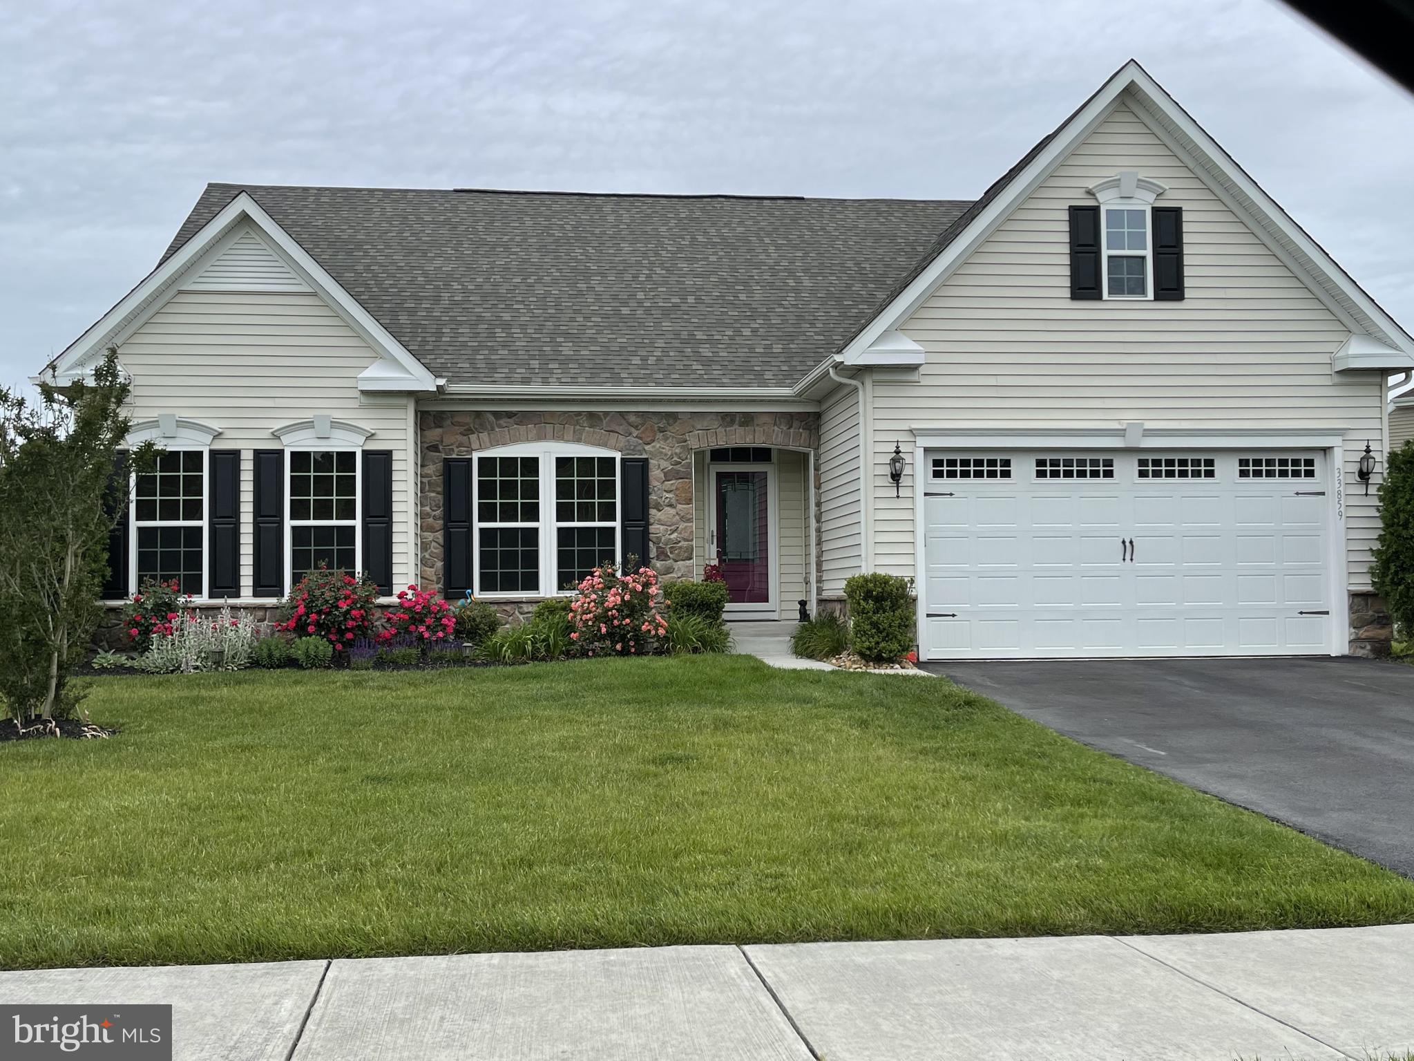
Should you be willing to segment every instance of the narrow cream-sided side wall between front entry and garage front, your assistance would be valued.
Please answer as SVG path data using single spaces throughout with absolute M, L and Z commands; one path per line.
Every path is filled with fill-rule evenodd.
M 844 580 L 860 573 L 863 514 L 858 403 L 858 392 L 851 386 L 837 386 L 820 402 L 822 597 L 843 596 Z M 909 529 L 912 530 L 912 523 Z

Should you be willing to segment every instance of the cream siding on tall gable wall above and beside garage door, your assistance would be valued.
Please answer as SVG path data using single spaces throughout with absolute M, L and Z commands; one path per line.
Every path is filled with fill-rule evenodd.
M 1184 301 L 1070 300 L 1066 208 L 1121 170 L 1184 208 Z M 875 567 L 898 574 L 913 574 L 915 470 L 895 499 L 887 464 L 912 427 L 1348 429 L 1348 482 L 1383 431 L 1380 373 L 1331 371 L 1340 321 L 1123 103 L 901 330 L 926 364 L 919 382 L 875 379 L 871 461 Z M 1369 587 L 1374 501 L 1346 491 L 1353 590 Z

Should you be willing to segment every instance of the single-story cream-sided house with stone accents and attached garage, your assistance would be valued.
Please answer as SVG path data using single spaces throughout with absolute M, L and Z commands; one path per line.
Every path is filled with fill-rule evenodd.
M 1414 340 L 1135 62 L 976 201 L 212 184 L 45 373 L 109 347 L 167 448 L 115 598 L 523 613 L 633 555 L 758 618 L 909 576 L 925 659 L 1389 638 Z

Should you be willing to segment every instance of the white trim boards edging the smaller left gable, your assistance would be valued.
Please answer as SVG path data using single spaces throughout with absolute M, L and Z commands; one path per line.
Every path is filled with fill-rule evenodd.
M 329 276 L 324 266 L 315 262 L 288 232 L 280 228 L 249 192 L 238 194 L 230 202 L 222 207 L 221 212 L 202 225 L 171 257 L 143 277 L 112 310 L 76 338 L 52 362 L 54 378 L 64 381 L 81 376 L 83 366 L 95 354 L 102 352 L 110 345 L 116 345 L 122 337 L 141 327 L 165 301 L 165 296 L 175 289 L 181 277 L 242 221 L 249 221 L 260 229 L 262 235 L 274 243 L 286 259 L 294 265 L 296 272 L 303 276 L 305 283 L 314 287 L 379 355 L 379 361 L 366 371 L 366 373 L 372 373 L 369 376 L 370 381 L 379 382 L 370 388 L 363 388 L 361 376 L 359 389 L 437 389 L 433 373 L 392 332 L 373 320 L 368 310 L 359 306 L 358 300 L 344 290 L 342 284 Z M 383 368 L 385 359 L 393 362 L 396 368 Z M 378 371 L 375 372 L 373 369 Z M 399 375 L 399 369 L 402 375 Z M 395 379 L 402 381 L 402 385 L 393 386 L 392 382 Z

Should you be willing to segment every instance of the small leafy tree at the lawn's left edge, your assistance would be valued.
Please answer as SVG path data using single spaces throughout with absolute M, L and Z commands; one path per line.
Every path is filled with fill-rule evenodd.
M 127 501 L 113 482 L 127 396 L 115 349 L 92 382 L 41 383 L 37 403 L 0 388 L 0 699 L 16 719 L 71 703 L 68 672 L 98 627 L 107 536 Z M 130 467 L 153 460 L 148 443 Z

